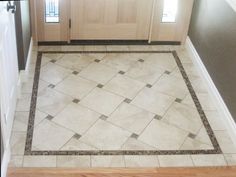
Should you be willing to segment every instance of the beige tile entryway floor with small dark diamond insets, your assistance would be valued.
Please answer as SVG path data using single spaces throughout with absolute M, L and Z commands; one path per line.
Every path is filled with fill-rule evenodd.
M 170 50 L 177 51 L 222 153 L 212 153 L 215 145 L 172 53 L 154 52 Z M 54 53 L 43 53 L 40 64 L 38 51 Z M 38 71 L 37 103 L 30 108 Z M 35 46 L 11 146 L 16 167 L 236 165 L 236 147 L 182 46 Z

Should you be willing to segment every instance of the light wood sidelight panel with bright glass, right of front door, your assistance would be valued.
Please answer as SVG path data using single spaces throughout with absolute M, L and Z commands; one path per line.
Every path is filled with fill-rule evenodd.
M 178 41 L 184 43 L 187 37 L 193 1 L 194 0 L 155 0 L 155 12 L 150 40 Z M 166 12 L 164 10 L 165 2 L 167 2 L 167 6 L 169 6 Z M 176 2 L 176 4 L 174 2 Z M 175 11 L 175 8 L 177 11 L 175 13 L 175 19 L 173 20 L 174 17 L 172 18 L 173 14 L 171 10 Z M 169 19 L 168 13 L 170 15 Z M 166 15 L 167 19 L 164 19 L 163 15 Z

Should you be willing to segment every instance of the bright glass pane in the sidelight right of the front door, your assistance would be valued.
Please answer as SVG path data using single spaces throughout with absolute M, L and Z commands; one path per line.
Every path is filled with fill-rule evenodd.
M 164 0 L 163 23 L 174 23 L 178 11 L 178 0 Z

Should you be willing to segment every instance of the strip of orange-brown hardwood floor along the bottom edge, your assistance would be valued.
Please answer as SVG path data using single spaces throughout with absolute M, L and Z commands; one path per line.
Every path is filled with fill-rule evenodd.
M 236 166 L 202 168 L 9 168 L 8 177 L 236 177 Z

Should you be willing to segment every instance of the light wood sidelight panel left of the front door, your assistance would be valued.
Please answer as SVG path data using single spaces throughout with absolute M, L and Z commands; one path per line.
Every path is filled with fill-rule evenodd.
M 46 3 L 53 6 L 57 0 L 35 0 L 38 41 L 68 41 L 70 0 L 58 0 L 58 21 L 46 20 Z M 53 8 L 53 7 L 50 7 Z

